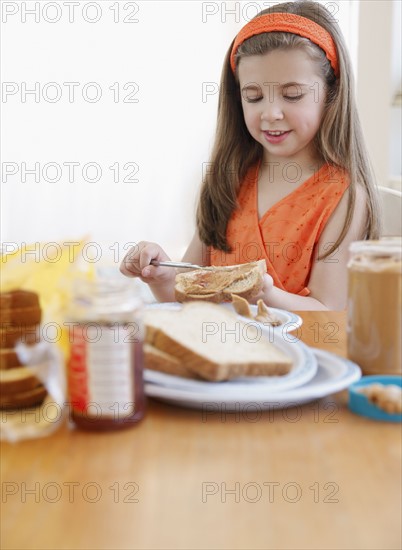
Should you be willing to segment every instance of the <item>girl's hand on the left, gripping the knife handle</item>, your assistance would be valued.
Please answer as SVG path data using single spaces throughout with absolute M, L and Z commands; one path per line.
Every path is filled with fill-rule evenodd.
M 120 264 L 120 271 L 126 277 L 139 277 L 150 285 L 174 281 L 175 270 L 170 267 L 156 267 L 151 260 L 170 260 L 166 252 L 156 243 L 141 241 L 130 248 Z

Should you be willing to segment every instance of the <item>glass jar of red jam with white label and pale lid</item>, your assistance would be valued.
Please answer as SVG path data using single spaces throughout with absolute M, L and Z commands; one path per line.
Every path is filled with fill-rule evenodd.
M 108 430 L 141 420 L 144 329 L 133 282 L 118 275 L 78 281 L 65 325 L 73 423 Z

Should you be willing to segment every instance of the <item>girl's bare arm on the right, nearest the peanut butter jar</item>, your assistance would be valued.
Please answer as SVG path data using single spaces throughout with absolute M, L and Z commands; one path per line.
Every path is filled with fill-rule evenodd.
M 349 191 L 345 191 L 338 206 L 329 218 L 318 242 L 319 255 L 335 243 L 340 234 L 348 208 Z M 356 186 L 356 201 L 352 223 L 340 247 L 324 260 L 315 261 L 311 269 L 309 296 L 298 296 L 273 286 L 272 278 L 265 278 L 264 301 L 272 306 L 288 310 L 341 310 L 346 308 L 347 262 L 349 245 L 362 238 L 367 219 L 366 193 Z

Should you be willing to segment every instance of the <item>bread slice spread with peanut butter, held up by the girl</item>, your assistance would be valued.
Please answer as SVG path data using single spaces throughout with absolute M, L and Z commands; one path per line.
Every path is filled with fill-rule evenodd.
M 250 300 L 263 286 L 267 271 L 265 260 L 233 266 L 209 267 L 176 275 L 175 296 L 178 302 L 204 300 L 230 302 L 232 294 Z

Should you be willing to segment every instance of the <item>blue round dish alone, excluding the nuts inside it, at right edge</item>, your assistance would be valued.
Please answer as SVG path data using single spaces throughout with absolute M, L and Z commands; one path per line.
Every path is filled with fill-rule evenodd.
M 402 422 L 402 414 L 388 414 L 374 403 L 369 401 L 367 395 L 358 390 L 370 384 L 395 384 L 402 387 L 402 377 L 398 375 L 363 376 L 358 382 L 349 386 L 349 409 L 361 416 L 367 416 L 373 420 L 385 420 L 386 422 Z

